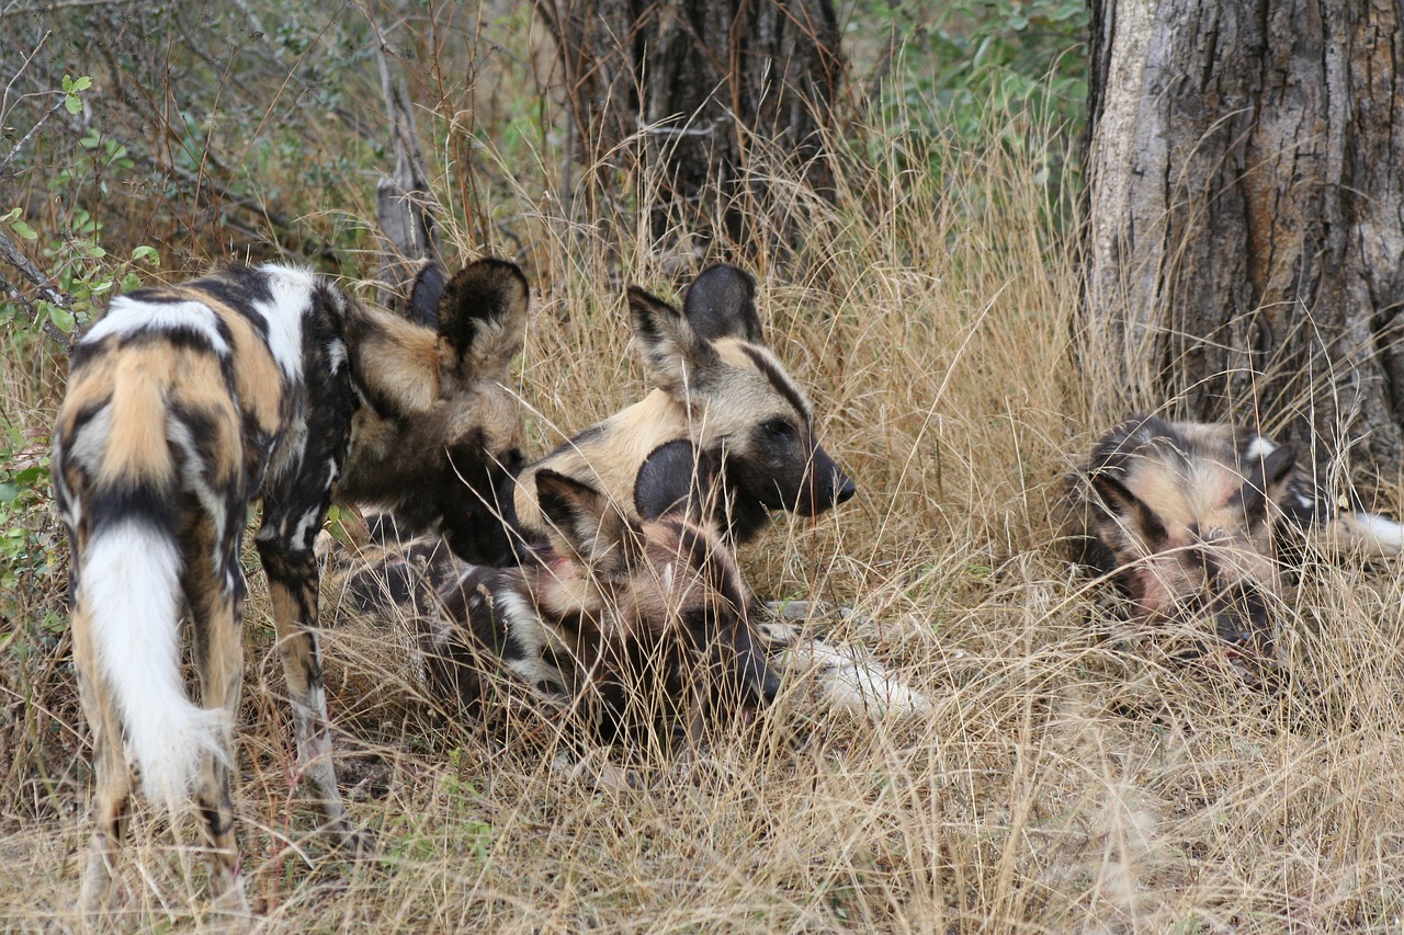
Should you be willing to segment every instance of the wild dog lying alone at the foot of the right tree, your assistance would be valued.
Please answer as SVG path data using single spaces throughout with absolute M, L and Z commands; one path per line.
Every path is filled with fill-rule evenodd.
M 1136 618 L 1203 618 L 1220 639 L 1269 658 L 1285 545 L 1325 532 L 1398 552 L 1404 528 L 1341 512 L 1290 445 L 1228 424 L 1130 418 L 1070 477 L 1078 560 L 1113 576 Z

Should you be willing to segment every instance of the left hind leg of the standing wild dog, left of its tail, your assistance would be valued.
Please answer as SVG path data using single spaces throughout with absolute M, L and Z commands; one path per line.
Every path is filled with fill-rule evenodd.
M 97 664 L 93 626 L 81 601 L 73 609 L 73 657 L 79 670 L 79 694 L 83 712 L 93 729 L 93 768 L 97 790 L 93 796 L 93 841 L 79 910 L 94 915 L 108 908 L 112 893 L 112 862 L 122 847 L 122 820 L 132 797 L 132 774 L 122 752 L 122 723 L 117 699 Z

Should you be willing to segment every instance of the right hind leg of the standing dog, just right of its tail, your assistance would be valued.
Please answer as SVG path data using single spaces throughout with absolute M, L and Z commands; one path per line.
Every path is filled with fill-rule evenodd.
M 237 914 L 247 914 L 244 882 L 239 865 L 239 841 L 234 837 L 234 800 L 230 790 L 236 751 L 234 719 L 244 675 L 243 571 L 239 567 L 239 535 L 220 549 L 215 563 L 209 536 L 187 545 L 185 601 L 190 605 L 195 639 L 195 665 L 199 670 L 201 703 L 223 712 L 219 738 L 223 758 L 205 754 L 199 771 L 199 813 L 209 838 L 209 882 L 216 900 Z

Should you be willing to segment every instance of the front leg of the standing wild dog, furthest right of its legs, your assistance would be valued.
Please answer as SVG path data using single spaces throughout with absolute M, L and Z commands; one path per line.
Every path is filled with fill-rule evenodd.
M 292 720 L 298 734 L 298 768 L 305 776 L 310 776 L 317 788 L 327 830 L 357 854 L 364 854 L 371 849 L 372 838 L 358 831 L 347 818 L 345 804 L 337 789 L 336 767 L 331 762 L 327 695 L 322 684 L 322 653 L 317 640 L 317 559 L 310 548 L 310 536 L 307 548 L 288 548 L 275 532 L 284 525 L 286 524 L 274 522 L 265 515 L 257 542 L 264 571 L 268 574 L 268 594 L 272 598 L 278 646 L 282 650 L 282 672 L 288 679 L 288 698 L 292 702 Z M 319 529 L 322 524 L 296 525 Z

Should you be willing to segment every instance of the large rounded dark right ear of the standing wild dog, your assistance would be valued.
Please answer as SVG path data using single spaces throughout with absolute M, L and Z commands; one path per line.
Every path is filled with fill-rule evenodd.
M 453 274 L 438 300 L 444 364 L 463 379 L 505 368 L 526 333 L 531 289 L 514 263 L 477 260 Z

